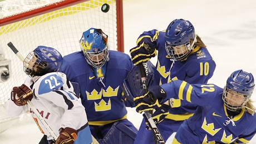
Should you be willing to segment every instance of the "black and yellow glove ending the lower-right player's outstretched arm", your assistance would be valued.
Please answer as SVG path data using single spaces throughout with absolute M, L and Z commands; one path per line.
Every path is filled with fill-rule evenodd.
M 153 110 L 156 105 L 160 107 L 159 102 L 161 103 L 165 97 L 165 91 L 160 86 L 154 86 L 145 95 L 134 98 L 136 111 L 142 113 Z

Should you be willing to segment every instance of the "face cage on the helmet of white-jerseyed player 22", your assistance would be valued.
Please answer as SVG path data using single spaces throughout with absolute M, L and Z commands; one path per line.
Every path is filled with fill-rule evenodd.
M 40 64 L 41 58 L 35 52 L 28 53 L 27 57 L 23 61 L 23 70 L 28 76 L 35 76 L 40 68 L 44 68 Z

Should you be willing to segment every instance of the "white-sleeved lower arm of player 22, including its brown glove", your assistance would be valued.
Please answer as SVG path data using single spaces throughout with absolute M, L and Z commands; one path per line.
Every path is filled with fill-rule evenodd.
M 81 98 L 77 98 L 74 93 L 67 90 L 53 90 L 42 94 L 39 98 L 45 98 L 45 100 L 52 102 L 53 105 L 61 107 L 64 110 L 59 130 L 60 136 L 58 136 L 56 143 L 75 141 L 78 130 L 86 127 L 88 123 Z

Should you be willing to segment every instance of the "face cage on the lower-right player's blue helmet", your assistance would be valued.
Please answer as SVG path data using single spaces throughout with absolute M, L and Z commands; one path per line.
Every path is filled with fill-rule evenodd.
M 230 105 L 230 104 L 228 103 L 228 101 L 226 100 L 226 99 L 227 99 L 227 93 L 229 93 L 228 91 L 233 91 L 233 90 L 230 90 L 230 89 L 224 87 L 222 100 L 223 100 L 223 102 L 224 102 L 224 105 L 227 107 L 227 109 L 228 109 L 229 111 L 237 111 L 237 110 L 240 110 L 240 109 L 242 109 L 242 108 L 245 106 L 245 104 L 249 101 L 250 95 L 245 95 L 245 94 L 243 94 L 243 93 L 239 93 L 239 92 L 233 91 L 233 92 L 238 93 L 238 94 L 240 94 L 240 95 L 244 95 L 244 96 L 245 96 L 245 101 L 244 101 L 244 102 L 242 103 L 242 105 L 240 105 L 240 106 L 233 106 L 233 105 Z M 230 95 L 232 95 L 232 94 L 230 94 Z

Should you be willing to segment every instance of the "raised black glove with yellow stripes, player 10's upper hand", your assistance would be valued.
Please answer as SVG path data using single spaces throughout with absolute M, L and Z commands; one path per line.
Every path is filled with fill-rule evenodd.
M 156 44 L 159 31 L 153 29 L 142 33 L 136 41 L 136 47 L 130 49 L 132 62 L 137 65 L 147 62 L 151 57 L 156 56 Z

